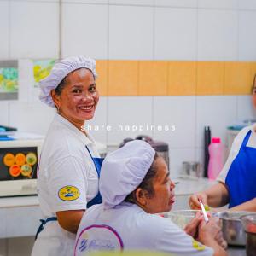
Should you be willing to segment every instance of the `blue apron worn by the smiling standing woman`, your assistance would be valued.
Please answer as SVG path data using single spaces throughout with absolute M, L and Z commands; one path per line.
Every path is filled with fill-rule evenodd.
M 85 146 L 86 149 L 88 150 L 89 154 L 90 154 L 90 150 L 87 146 Z M 101 174 L 101 169 L 102 169 L 102 162 L 103 162 L 103 158 L 100 157 L 92 157 L 92 155 L 90 154 L 90 158 L 93 161 L 95 167 L 96 167 L 96 172 L 98 175 L 98 178 L 100 178 L 100 174 Z M 90 200 L 87 203 L 87 208 L 96 205 L 96 204 L 101 204 L 102 203 L 102 195 L 100 194 L 100 191 L 98 192 L 98 194 L 96 195 L 96 197 L 94 197 L 92 200 Z M 47 224 L 49 221 L 56 221 L 57 218 L 56 217 L 50 217 L 50 218 L 46 218 L 46 219 L 40 219 L 40 226 L 38 228 L 35 240 L 38 238 L 38 234 L 44 230 L 44 225 Z

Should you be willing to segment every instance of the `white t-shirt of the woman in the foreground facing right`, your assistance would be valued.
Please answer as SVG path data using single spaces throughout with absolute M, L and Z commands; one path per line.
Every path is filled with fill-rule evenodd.
M 148 214 L 137 205 L 123 202 L 107 210 L 103 204 L 90 207 L 79 225 L 74 255 L 122 247 L 183 256 L 213 255 L 212 248 L 195 241 L 170 219 Z

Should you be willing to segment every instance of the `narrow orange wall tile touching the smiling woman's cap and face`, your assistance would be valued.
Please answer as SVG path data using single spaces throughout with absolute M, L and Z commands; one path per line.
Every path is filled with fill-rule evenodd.
M 97 90 L 101 96 L 108 95 L 108 61 L 96 61 L 96 79 Z

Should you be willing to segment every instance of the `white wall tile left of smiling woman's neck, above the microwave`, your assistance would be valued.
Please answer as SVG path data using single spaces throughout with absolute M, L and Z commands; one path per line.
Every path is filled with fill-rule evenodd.
M 44 103 L 12 102 L 9 104 L 9 125 L 19 131 L 46 134 L 55 116 L 55 109 Z

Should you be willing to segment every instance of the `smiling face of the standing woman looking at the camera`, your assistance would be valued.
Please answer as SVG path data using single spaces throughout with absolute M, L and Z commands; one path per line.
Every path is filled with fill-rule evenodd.
M 73 123 L 79 130 L 85 120 L 93 118 L 99 101 L 94 76 L 86 68 L 69 73 L 64 80 L 61 94 L 58 95 L 55 90 L 52 90 L 51 96 L 61 116 Z

